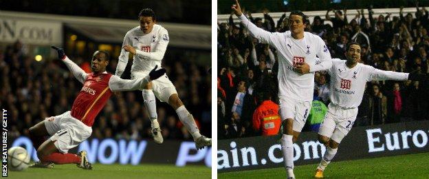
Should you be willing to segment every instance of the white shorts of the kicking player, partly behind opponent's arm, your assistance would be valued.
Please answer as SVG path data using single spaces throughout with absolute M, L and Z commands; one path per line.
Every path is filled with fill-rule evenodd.
M 148 74 L 149 72 L 133 72 L 131 73 L 131 79 L 144 78 Z M 176 87 L 171 83 L 170 79 L 168 79 L 167 74 L 152 81 L 152 90 L 159 101 L 167 103 L 168 98 L 170 98 L 172 94 L 177 94 Z

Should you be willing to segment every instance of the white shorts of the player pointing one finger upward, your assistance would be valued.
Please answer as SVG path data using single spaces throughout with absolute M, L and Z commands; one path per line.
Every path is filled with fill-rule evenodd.
M 293 118 L 294 126 L 292 129 L 301 132 L 310 113 L 311 101 L 298 101 L 281 96 L 279 96 L 279 101 L 278 111 L 282 121 L 287 118 Z

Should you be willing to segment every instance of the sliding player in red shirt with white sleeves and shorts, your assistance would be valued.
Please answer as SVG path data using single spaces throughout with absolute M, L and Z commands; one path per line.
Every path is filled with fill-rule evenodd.
M 67 154 L 69 149 L 91 136 L 94 119 L 113 92 L 143 89 L 144 85 L 164 75 L 166 70 L 156 70 L 155 66 L 147 76 L 124 80 L 106 72 L 109 53 L 96 51 L 91 60 L 93 72 L 87 74 L 65 55 L 63 49 L 54 46 L 52 48 L 57 50 L 58 58 L 62 59 L 74 77 L 83 83 L 83 87 L 74 100 L 72 111 L 46 118 L 29 129 L 30 138 L 40 159 L 40 162 L 30 167 L 52 168 L 53 164 L 76 163 L 80 168 L 92 169 L 86 151 L 80 151 L 78 155 Z M 44 141 L 45 136 L 51 137 Z

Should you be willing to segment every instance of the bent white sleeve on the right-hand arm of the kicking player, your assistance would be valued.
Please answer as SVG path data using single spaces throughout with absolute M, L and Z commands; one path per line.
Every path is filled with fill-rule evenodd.
M 135 52 L 138 56 L 142 56 L 150 61 L 161 61 L 162 58 L 164 58 L 165 51 L 167 50 L 168 41 L 170 41 L 168 32 L 166 29 L 162 28 L 162 30 L 159 31 L 158 42 L 153 52 L 143 52 L 138 49 L 136 49 Z

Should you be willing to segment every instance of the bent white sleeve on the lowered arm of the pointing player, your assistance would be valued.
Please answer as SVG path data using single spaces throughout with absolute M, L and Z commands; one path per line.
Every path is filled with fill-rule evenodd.
M 329 52 L 329 49 L 327 45 L 325 44 L 325 41 L 320 38 L 320 36 L 316 36 L 317 43 L 318 43 L 318 51 L 316 52 L 316 55 L 320 59 L 320 63 L 315 63 L 314 65 L 310 66 L 310 72 L 317 72 L 317 71 L 323 71 L 328 70 L 332 67 L 332 59 L 331 59 L 331 53 Z

